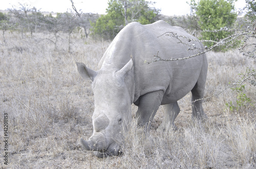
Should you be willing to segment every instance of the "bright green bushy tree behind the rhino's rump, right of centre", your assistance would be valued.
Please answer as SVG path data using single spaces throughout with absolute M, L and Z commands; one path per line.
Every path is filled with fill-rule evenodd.
M 223 30 L 219 32 L 202 32 L 201 39 L 218 41 L 228 37 L 231 33 L 227 32 L 236 21 L 237 14 L 234 12 L 234 2 L 236 0 L 200 0 L 198 3 L 191 0 L 190 7 L 195 10 L 199 17 L 201 30 Z M 212 46 L 214 42 L 205 42 L 205 45 Z M 216 48 L 221 50 L 224 47 Z

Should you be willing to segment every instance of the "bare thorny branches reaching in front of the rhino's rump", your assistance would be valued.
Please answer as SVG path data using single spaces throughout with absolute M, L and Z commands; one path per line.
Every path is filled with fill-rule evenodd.
M 151 62 L 148 62 L 148 61 L 145 60 L 144 63 L 145 64 L 152 64 L 153 62 L 159 62 L 159 61 L 169 62 L 169 61 L 180 61 L 180 60 L 186 60 L 186 59 L 194 58 L 194 57 L 197 57 L 197 56 L 199 56 L 201 54 L 204 54 L 204 53 L 207 53 L 207 52 L 211 51 L 215 47 L 223 46 L 223 45 L 228 44 L 228 43 L 230 43 L 233 40 L 236 40 L 238 38 L 241 38 L 241 39 L 243 38 L 241 46 L 238 49 L 239 52 L 242 53 L 243 55 L 249 57 L 249 58 L 252 58 L 252 59 L 256 60 L 256 44 L 255 43 L 248 44 L 249 38 L 256 38 L 256 35 L 255 35 L 254 30 L 250 31 L 249 28 L 250 27 L 248 26 L 247 30 L 234 30 L 234 29 L 233 30 L 229 30 L 226 27 L 224 27 L 224 28 L 221 28 L 220 30 L 215 30 L 215 31 L 198 31 L 198 32 L 212 32 L 212 33 L 218 33 L 218 32 L 225 31 L 225 32 L 232 33 L 230 36 L 228 36 L 228 37 L 226 37 L 224 39 L 221 39 L 220 41 L 191 39 L 191 38 L 188 38 L 186 36 L 177 35 L 177 33 L 174 33 L 174 32 L 166 32 L 163 35 L 159 36 L 158 38 L 160 38 L 162 36 L 169 36 L 171 38 L 175 38 L 175 39 L 178 40 L 177 43 L 182 43 L 182 44 L 188 46 L 187 50 L 197 50 L 199 52 L 194 54 L 194 55 L 190 55 L 188 57 L 185 57 L 185 58 L 162 59 L 160 57 L 160 55 L 159 55 L 159 51 L 157 51 L 157 54 L 154 55 L 154 57 L 153 57 Z M 210 47 L 204 46 L 202 48 L 202 47 L 196 46 L 194 43 L 192 43 L 192 45 L 191 45 L 191 43 L 189 44 L 189 42 L 200 42 L 200 43 L 203 43 L 203 42 L 213 42 L 214 45 L 212 45 Z M 248 49 L 248 47 L 250 47 L 250 46 L 253 47 L 253 49 L 251 51 Z M 197 99 L 197 100 L 194 100 L 192 102 L 196 102 L 196 101 L 199 101 L 199 100 L 209 99 L 211 97 L 216 97 L 216 96 L 220 95 L 221 93 L 223 93 L 224 91 L 226 91 L 227 89 L 233 88 L 234 86 L 242 85 L 242 83 L 245 82 L 251 76 L 255 77 L 256 76 L 256 72 L 252 71 L 245 78 L 243 78 L 243 79 L 241 79 L 239 81 L 234 81 L 233 85 L 225 88 L 224 90 L 222 90 L 218 94 L 215 94 L 215 95 L 212 95 L 212 96 L 209 96 L 209 97 L 206 97 L 206 98 Z M 253 84 L 253 82 L 254 81 L 251 81 L 252 84 Z

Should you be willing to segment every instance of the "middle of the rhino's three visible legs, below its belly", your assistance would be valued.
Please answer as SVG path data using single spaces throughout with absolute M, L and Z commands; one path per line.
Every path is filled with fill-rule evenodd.
M 164 119 L 162 124 L 157 128 L 157 132 L 163 132 L 168 127 L 172 127 L 176 129 L 174 121 L 180 112 L 180 107 L 178 105 L 178 102 L 176 101 L 174 103 L 165 104 L 163 105 L 163 108 L 164 108 Z

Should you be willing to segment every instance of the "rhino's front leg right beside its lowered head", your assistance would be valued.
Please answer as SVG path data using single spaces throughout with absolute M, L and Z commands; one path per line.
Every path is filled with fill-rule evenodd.
M 151 122 L 156 115 L 156 112 L 163 99 L 163 91 L 155 91 L 140 96 L 137 102 L 138 111 L 136 112 L 137 123 L 139 126 L 145 127 L 145 130 L 150 131 Z

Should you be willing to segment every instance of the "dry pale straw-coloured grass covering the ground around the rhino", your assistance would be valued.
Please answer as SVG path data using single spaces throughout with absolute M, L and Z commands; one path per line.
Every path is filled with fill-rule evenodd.
M 97 158 L 85 151 L 79 138 L 92 134 L 93 93 L 75 62 L 97 69 L 109 43 L 73 37 L 72 52 L 66 39 L 54 45 L 36 34 L 32 40 L 16 33 L 6 35 L 0 45 L 1 124 L 8 113 L 10 168 L 255 168 L 256 167 L 256 88 L 246 85 L 252 100 L 231 112 L 225 103 L 236 101 L 231 90 L 207 99 L 205 123 L 191 120 L 190 94 L 179 101 L 177 131 L 157 133 L 163 118 L 160 107 L 150 135 L 132 127 L 124 134 L 123 156 Z M 79 35 L 77 35 L 79 37 Z M 1 37 L 2 38 L 2 37 Z M 0 38 L 0 41 L 3 39 Z M 48 37 L 47 37 L 48 38 Z M 251 59 L 236 50 L 208 53 L 206 96 L 214 95 L 238 78 Z M 133 114 L 136 107 L 133 106 Z M 3 140 L 3 125 L 0 128 Z M 4 145 L 1 141 L 1 168 Z

